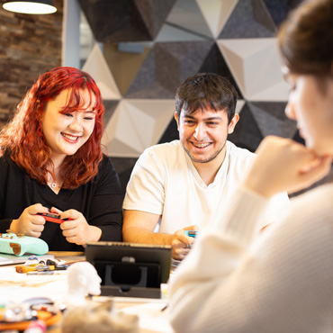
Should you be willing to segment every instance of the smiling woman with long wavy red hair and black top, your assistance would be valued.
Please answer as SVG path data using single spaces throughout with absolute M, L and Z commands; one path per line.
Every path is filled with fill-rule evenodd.
M 103 156 L 103 100 L 73 67 L 40 76 L 0 132 L 0 232 L 44 239 L 49 250 L 121 240 L 121 185 Z M 37 213 L 60 214 L 60 225 Z

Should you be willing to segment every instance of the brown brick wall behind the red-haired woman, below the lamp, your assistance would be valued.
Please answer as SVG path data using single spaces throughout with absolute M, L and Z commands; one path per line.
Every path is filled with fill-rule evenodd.
M 14 14 L 0 0 L 0 128 L 40 74 L 61 66 L 63 0 L 55 14 Z

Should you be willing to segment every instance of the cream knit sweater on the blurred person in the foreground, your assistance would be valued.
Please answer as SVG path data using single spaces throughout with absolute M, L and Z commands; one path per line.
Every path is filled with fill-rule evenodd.
M 175 332 L 331 330 L 332 231 L 307 209 L 313 198 L 305 207 L 294 204 L 284 220 L 255 239 L 266 199 L 245 189 L 237 194 L 226 229 L 202 233 L 171 276 Z

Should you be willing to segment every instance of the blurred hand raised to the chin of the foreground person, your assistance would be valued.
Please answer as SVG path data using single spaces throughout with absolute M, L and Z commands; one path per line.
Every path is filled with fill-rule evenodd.
M 263 139 L 256 153 L 244 185 L 268 198 L 310 186 L 329 174 L 332 163 L 331 156 L 319 157 L 293 139 L 274 136 Z

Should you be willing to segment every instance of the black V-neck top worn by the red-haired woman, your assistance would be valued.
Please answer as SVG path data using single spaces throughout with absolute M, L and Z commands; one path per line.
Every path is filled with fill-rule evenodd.
M 31 179 L 9 154 L 0 157 L 0 232 L 35 203 L 81 211 L 90 225 L 102 229 L 101 240 L 122 240 L 121 184 L 109 157 L 103 157 L 93 180 L 74 190 L 60 189 L 58 194 Z M 67 242 L 58 223 L 46 221 L 40 238 L 48 243 L 49 251 L 84 251 L 84 247 Z

